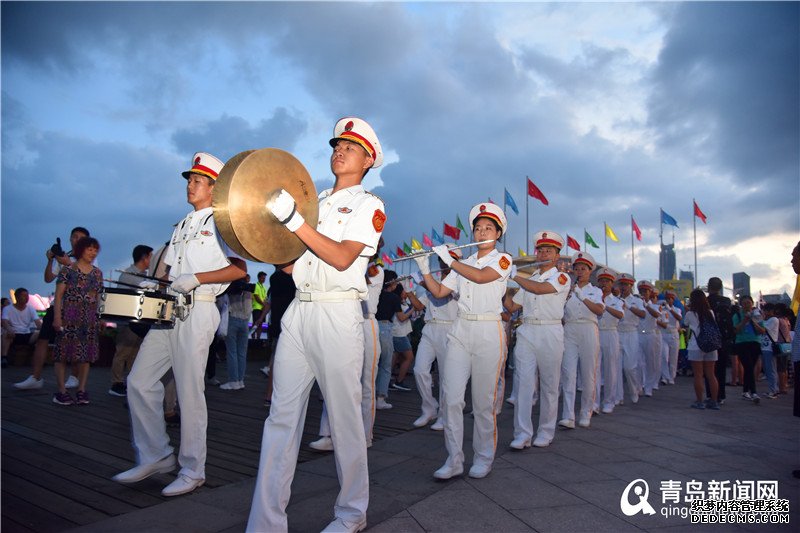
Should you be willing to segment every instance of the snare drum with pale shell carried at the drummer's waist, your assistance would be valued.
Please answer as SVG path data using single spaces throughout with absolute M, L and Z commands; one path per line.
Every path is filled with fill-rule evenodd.
M 175 297 L 145 289 L 106 287 L 97 301 L 97 314 L 111 321 L 175 324 Z

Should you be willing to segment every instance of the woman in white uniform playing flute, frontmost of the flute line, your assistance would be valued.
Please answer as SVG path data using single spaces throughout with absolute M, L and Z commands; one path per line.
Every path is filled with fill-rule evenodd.
M 511 256 L 496 249 L 496 243 L 507 228 L 503 210 L 492 203 L 478 204 L 469 214 L 478 252 L 464 261 L 456 261 L 446 245 L 433 251 L 450 274 L 436 281 L 430 274 L 427 257 L 417 257 L 428 291 L 436 298 L 458 292 L 458 317 L 447 336 L 447 356 L 441 368 L 444 390 L 444 436 L 448 457 L 434 472 L 437 479 L 450 479 L 464 472 L 464 393 L 472 379 L 474 459 L 470 477 L 483 478 L 492 470 L 497 448 L 495 401 L 500 372 L 506 358 L 506 339 L 500 314 L 502 297 L 511 273 Z

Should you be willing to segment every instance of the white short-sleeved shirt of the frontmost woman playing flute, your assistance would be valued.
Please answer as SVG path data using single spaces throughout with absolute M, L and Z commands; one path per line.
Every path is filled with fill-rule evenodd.
M 455 270 L 442 280 L 442 285 L 458 293 L 458 310 L 466 314 L 496 314 L 503 312 L 503 295 L 511 274 L 511 256 L 492 250 L 481 258 L 473 254 L 463 261 L 465 265 L 483 269 L 489 267 L 500 277 L 489 283 L 475 283 Z

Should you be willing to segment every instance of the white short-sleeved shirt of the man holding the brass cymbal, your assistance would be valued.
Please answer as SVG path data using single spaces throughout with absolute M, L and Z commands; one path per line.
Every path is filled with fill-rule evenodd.
M 344 292 L 355 290 L 361 299 L 367 298 L 367 271 L 369 258 L 375 255 L 378 241 L 386 222 L 383 201 L 354 185 L 319 195 L 319 222 L 317 231 L 336 242 L 355 241 L 364 245 L 358 258 L 343 271 L 339 271 L 306 250 L 295 262 L 292 277 L 297 290 L 302 292 Z

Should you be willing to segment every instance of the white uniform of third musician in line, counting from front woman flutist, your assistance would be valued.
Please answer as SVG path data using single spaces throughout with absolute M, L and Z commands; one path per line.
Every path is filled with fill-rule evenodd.
M 603 305 L 603 291 L 592 284 L 581 288 L 583 298 Z M 575 420 L 575 394 L 578 364 L 581 367 L 581 407 L 578 419 L 588 422 L 594 409 L 595 383 L 600 359 L 597 315 L 573 292 L 564 307 L 564 360 L 561 362 L 561 417 Z

